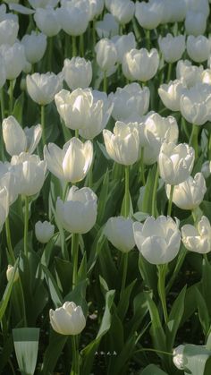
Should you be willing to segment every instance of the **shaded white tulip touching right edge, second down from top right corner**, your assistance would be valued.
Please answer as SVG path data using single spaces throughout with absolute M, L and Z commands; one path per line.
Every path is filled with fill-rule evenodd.
M 202 63 L 208 60 L 210 54 L 210 40 L 204 35 L 194 37 L 190 35 L 187 38 L 187 52 L 190 58 L 196 63 Z

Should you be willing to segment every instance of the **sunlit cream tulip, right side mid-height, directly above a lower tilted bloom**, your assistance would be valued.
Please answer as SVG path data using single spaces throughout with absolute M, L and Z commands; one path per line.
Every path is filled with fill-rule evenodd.
M 158 157 L 160 176 L 165 183 L 178 185 L 190 176 L 194 164 L 194 149 L 186 143 L 163 143 Z

